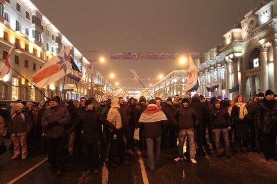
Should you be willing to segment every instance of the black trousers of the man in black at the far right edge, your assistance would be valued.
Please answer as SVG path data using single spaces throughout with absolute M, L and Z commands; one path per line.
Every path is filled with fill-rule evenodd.
M 275 141 L 276 141 L 276 133 L 263 133 L 262 134 L 262 151 L 265 159 L 275 158 Z

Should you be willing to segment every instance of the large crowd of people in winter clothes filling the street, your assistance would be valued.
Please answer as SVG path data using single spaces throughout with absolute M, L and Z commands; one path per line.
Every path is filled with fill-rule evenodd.
M 100 103 L 85 97 L 61 101 L 56 96 L 45 103 L 17 100 L 0 109 L 0 135 L 10 138 L 14 150 L 10 159 L 24 160 L 32 146 L 46 144 L 42 147 L 47 147 L 49 174 L 62 174 L 65 145 L 69 156 L 82 158 L 85 174 L 98 174 L 106 159 L 111 168 L 129 165 L 126 154 L 136 149 L 147 149 L 150 170 L 159 164 L 161 151 L 177 147 L 175 161 L 186 155 L 197 163 L 196 152 L 204 156 L 207 149 L 230 158 L 230 145 L 235 147 L 232 154 L 252 151 L 276 160 L 276 133 L 277 96 L 271 90 L 250 102 L 241 95 L 233 100 L 176 95 L 165 101 L 142 96 L 128 102 L 119 97 Z

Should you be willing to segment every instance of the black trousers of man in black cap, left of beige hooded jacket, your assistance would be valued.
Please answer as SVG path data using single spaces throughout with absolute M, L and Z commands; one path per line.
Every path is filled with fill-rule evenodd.
M 83 144 L 84 170 L 99 169 L 99 152 L 97 142 Z

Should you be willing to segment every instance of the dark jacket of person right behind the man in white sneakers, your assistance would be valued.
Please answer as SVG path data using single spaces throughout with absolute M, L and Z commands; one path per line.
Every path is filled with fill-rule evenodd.
M 198 97 L 192 97 L 189 107 L 192 107 L 198 115 L 199 126 L 203 126 L 207 119 L 209 119 L 209 113 L 204 103 L 200 102 Z

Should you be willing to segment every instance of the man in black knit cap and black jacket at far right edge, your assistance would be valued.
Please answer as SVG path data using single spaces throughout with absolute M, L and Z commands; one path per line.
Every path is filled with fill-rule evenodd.
M 265 99 L 259 103 L 257 125 L 262 130 L 262 150 L 266 160 L 276 159 L 277 102 L 274 93 L 266 90 Z

